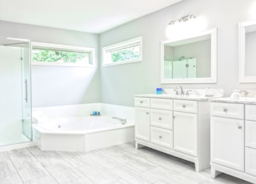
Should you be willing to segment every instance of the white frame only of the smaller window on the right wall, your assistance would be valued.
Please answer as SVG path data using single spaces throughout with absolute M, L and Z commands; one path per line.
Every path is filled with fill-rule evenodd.
M 106 54 L 109 54 L 110 50 L 112 50 L 112 51 L 122 50 L 124 48 L 129 48 L 129 46 L 132 46 L 135 44 L 138 44 L 138 46 L 139 46 L 139 52 L 140 52 L 139 58 L 118 61 L 118 62 L 113 62 L 112 59 L 111 59 L 111 61 L 107 60 L 108 57 L 106 57 Z M 112 44 L 109 46 L 102 47 L 102 66 L 116 66 L 116 65 L 128 64 L 128 63 L 133 63 L 133 62 L 142 62 L 142 36 L 132 38 L 132 39 L 126 40 L 124 42 L 118 42 L 118 43 L 115 43 L 115 44 Z

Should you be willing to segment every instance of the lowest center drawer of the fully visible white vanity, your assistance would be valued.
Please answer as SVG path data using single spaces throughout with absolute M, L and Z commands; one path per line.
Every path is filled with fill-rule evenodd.
M 159 146 L 173 149 L 173 131 L 151 126 L 150 141 Z

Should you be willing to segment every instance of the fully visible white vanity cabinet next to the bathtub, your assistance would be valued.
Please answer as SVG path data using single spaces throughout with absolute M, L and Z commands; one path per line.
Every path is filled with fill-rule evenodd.
M 210 103 L 206 99 L 139 95 L 134 102 L 136 148 L 148 146 L 194 162 L 196 171 L 210 166 Z

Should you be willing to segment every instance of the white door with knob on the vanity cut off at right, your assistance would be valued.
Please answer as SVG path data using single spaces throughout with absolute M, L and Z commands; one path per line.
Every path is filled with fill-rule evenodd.
M 244 171 L 244 121 L 210 118 L 211 162 Z

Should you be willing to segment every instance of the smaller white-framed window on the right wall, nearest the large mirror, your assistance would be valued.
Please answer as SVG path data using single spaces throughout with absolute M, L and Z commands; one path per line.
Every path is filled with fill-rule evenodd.
M 102 48 L 103 66 L 142 61 L 142 37 Z

